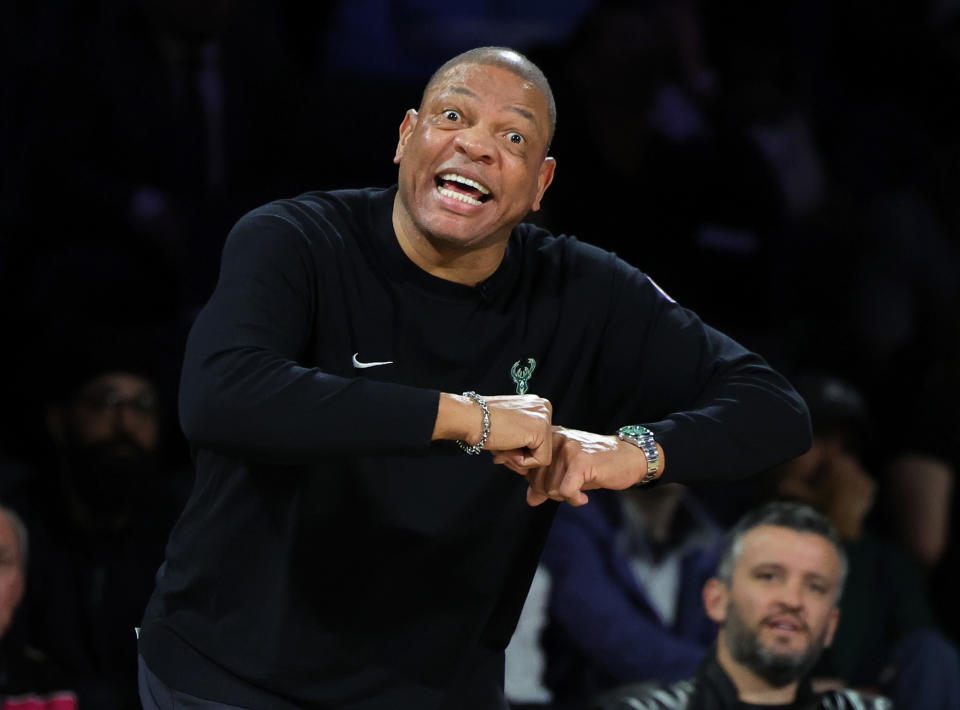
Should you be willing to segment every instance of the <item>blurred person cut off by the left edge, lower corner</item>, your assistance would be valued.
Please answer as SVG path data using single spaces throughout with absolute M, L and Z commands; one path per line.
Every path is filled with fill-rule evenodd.
M 62 675 L 11 631 L 26 590 L 27 550 L 23 521 L 0 506 L 0 708 L 76 710 L 77 698 L 64 690 Z

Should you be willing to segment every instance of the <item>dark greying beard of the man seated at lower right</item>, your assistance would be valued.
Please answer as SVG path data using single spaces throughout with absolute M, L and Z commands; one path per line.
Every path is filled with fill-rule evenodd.
M 810 672 L 826 646 L 827 627 L 803 651 L 777 651 L 760 641 L 757 630 L 747 626 L 733 602 L 727 606 L 724 625 L 727 648 L 734 660 L 749 668 L 775 688 L 800 680 Z

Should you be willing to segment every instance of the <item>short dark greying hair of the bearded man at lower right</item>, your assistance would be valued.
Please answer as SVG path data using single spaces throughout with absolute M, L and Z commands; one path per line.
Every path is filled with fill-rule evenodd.
M 733 568 L 743 553 L 744 536 L 761 525 L 776 525 L 797 532 L 813 533 L 826 538 L 840 558 L 840 583 L 836 598 L 840 598 L 847 577 L 847 553 L 837 529 L 829 518 L 818 513 L 806 503 L 774 501 L 748 511 L 727 533 L 720 560 L 717 563 L 717 578 L 727 586 L 733 581 Z

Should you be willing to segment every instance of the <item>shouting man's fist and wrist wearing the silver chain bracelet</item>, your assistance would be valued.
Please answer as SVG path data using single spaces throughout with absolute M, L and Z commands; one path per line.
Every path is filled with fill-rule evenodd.
M 549 465 L 553 456 L 553 406 L 532 394 L 484 397 L 490 410 L 490 436 L 484 449 L 509 452 L 524 467 Z M 483 410 L 469 397 L 442 393 L 433 439 L 480 441 Z

